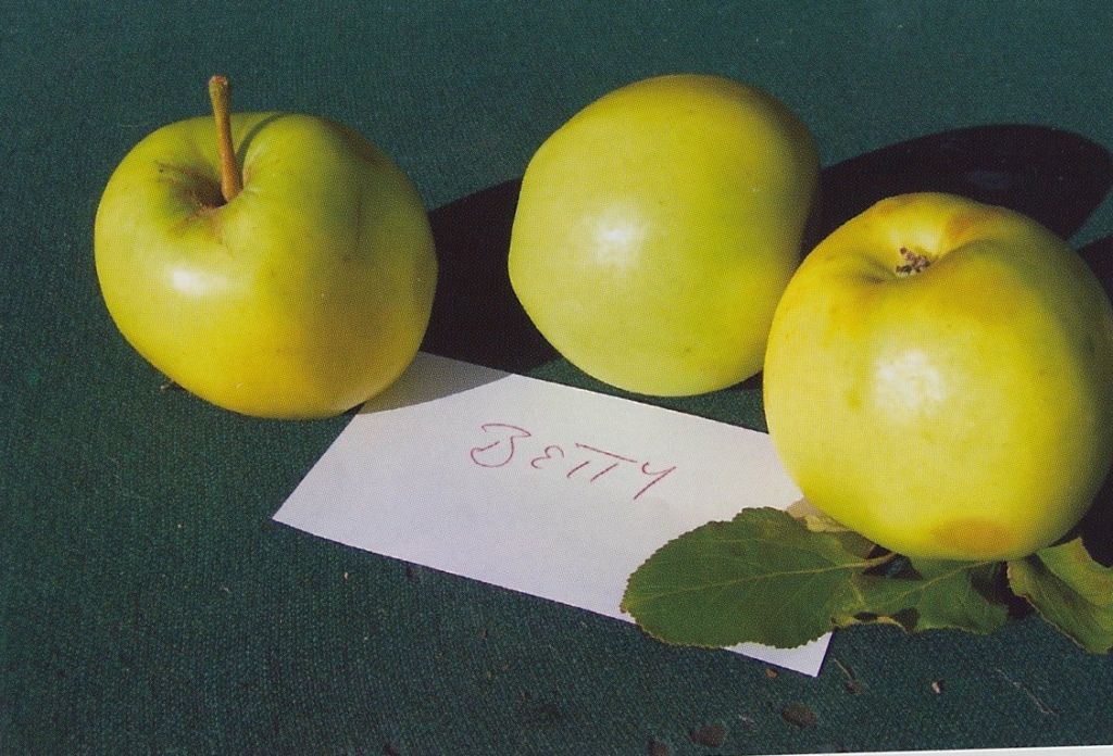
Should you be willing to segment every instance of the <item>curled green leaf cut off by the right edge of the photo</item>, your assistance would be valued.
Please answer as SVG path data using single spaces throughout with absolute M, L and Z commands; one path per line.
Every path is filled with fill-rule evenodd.
M 1008 585 L 1091 654 L 1113 648 L 1113 568 L 1094 561 L 1081 537 L 1013 559 Z

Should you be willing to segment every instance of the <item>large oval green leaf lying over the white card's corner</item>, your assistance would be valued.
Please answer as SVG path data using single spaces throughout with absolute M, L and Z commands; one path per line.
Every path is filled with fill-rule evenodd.
M 622 610 L 667 643 L 792 648 L 856 601 L 851 574 L 888 558 L 863 558 L 778 509 L 743 509 L 658 549 L 630 576 Z

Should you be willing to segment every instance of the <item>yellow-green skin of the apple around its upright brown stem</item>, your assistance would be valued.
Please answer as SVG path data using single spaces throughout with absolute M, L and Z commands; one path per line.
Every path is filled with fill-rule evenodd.
M 221 205 L 216 129 L 158 129 L 97 210 L 105 302 L 168 377 L 245 415 L 319 418 L 380 392 L 429 324 L 436 258 L 414 187 L 351 129 L 233 116 L 244 189 Z

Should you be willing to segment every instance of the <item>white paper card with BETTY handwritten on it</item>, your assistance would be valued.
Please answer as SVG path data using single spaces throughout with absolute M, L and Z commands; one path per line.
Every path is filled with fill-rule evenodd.
M 682 533 L 800 493 L 765 434 L 418 354 L 275 519 L 630 621 L 630 573 Z M 829 636 L 747 656 L 817 675 Z

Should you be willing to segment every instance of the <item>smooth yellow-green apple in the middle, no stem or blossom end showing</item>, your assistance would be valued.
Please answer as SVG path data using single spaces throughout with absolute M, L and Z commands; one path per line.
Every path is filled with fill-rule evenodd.
M 761 368 L 818 162 L 808 129 L 760 90 L 634 82 L 530 160 L 511 284 L 550 344 L 604 382 L 657 396 L 737 384 Z

